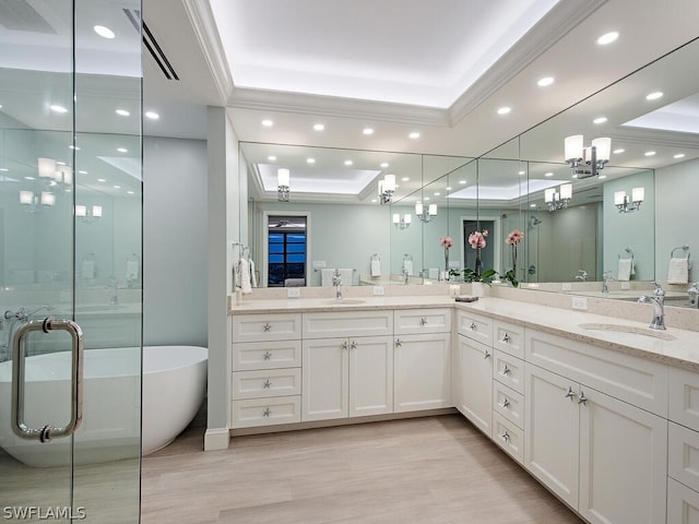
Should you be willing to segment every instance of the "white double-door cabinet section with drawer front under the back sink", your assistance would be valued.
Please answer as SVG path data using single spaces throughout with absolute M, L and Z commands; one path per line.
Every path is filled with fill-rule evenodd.
M 393 412 L 393 312 L 304 314 L 301 420 Z

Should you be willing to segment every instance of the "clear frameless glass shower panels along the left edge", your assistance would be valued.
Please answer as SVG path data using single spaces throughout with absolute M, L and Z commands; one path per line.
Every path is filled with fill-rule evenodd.
M 139 522 L 140 12 L 140 0 L 0 3 L 3 522 Z M 75 431 L 54 437 L 79 404 Z

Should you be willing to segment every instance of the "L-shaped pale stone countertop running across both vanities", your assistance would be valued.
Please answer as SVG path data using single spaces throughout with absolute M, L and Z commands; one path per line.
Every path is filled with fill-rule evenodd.
M 289 313 L 329 311 L 370 311 L 455 307 L 483 313 L 545 333 L 585 344 L 699 371 L 699 331 L 668 327 L 650 330 L 648 319 L 626 320 L 497 297 L 481 297 L 474 302 L 457 302 L 447 295 L 332 298 L 291 298 L 271 300 L 232 300 L 229 314 Z

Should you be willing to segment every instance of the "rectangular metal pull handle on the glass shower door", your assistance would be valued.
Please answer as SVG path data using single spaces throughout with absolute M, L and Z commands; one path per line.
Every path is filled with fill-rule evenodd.
M 24 379 L 25 344 L 24 336 L 32 331 L 67 331 L 72 340 L 71 406 L 69 422 L 59 428 L 46 425 L 43 428 L 29 428 L 24 422 Z M 48 442 L 54 437 L 66 437 L 74 432 L 83 419 L 83 330 L 72 320 L 56 320 L 47 317 L 20 326 L 12 338 L 12 430 L 23 439 L 37 439 Z

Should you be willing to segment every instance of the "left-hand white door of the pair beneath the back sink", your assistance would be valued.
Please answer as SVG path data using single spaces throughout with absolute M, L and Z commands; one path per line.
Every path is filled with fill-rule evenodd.
M 346 338 L 304 341 L 301 420 L 344 418 L 348 413 L 350 344 Z

